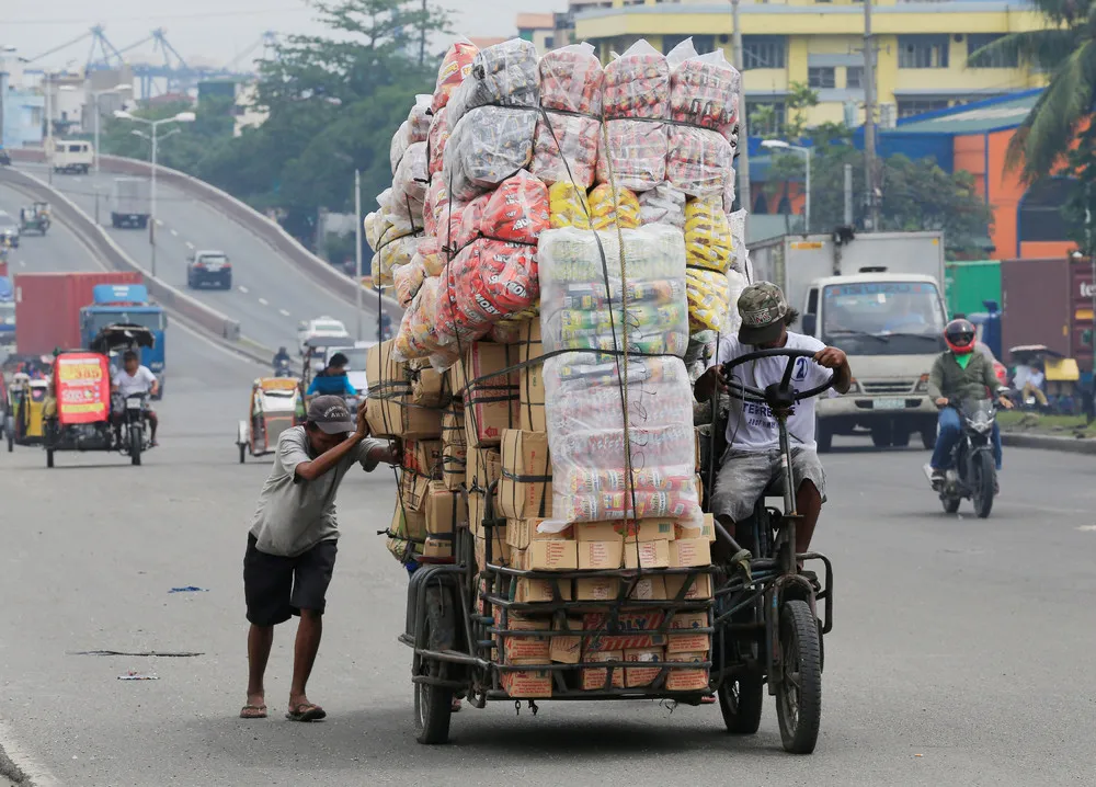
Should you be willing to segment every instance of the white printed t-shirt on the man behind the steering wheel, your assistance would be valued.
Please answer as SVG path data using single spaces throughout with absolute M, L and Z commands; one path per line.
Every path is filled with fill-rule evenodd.
M 788 331 L 788 343 L 784 350 L 810 350 L 818 352 L 825 349 L 825 344 L 814 337 L 807 337 L 802 333 Z M 719 349 L 716 356 L 708 363 L 708 368 L 717 364 L 756 352 L 761 347 L 741 344 L 738 337 L 723 337 L 719 340 Z M 819 366 L 810 358 L 790 360 L 795 364 L 791 373 L 791 387 L 796 390 L 810 390 L 830 379 L 834 374 L 832 369 Z M 779 383 L 784 378 L 784 369 L 787 367 L 789 358 L 776 356 L 772 358 L 760 358 L 735 366 L 731 370 L 732 378 L 737 381 L 754 388 L 764 390 L 766 386 Z M 834 396 L 830 390 L 830 396 Z M 818 443 L 814 442 L 814 398 L 804 399 L 796 404 L 795 413 L 788 418 L 788 440 L 795 447 L 818 450 Z M 768 404 L 764 402 L 744 402 L 741 399 L 731 399 L 731 412 L 727 420 L 727 443 L 735 450 L 775 450 L 780 447 L 780 434 L 777 430 L 776 418 Z

